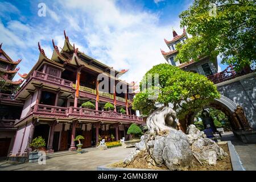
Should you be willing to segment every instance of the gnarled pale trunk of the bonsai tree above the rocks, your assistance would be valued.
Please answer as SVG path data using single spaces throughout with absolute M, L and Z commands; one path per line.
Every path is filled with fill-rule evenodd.
M 159 134 L 160 131 L 176 129 L 176 112 L 168 106 L 156 109 L 147 118 L 147 128 L 150 133 Z

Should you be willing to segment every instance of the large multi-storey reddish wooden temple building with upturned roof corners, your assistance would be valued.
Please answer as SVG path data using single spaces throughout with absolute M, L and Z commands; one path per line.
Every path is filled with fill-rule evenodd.
M 114 135 L 115 140 L 127 139 L 130 124 L 143 122 L 131 109 L 131 85 L 118 78 L 127 70 L 115 71 L 85 55 L 69 42 L 65 32 L 64 36 L 61 51 L 52 40 L 51 58 L 38 44 L 37 63 L 28 74 L 19 74 L 26 81 L 15 94 L 5 96 L 9 102 L 22 104 L 20 117 L 14 118 L 16 135 L 9 157 L 26 156 L 35 137 L 46 140 L 48 152 L 76 150 L 73 139 L 77 135 L 85 137 L 83 147 L 90 147 L 99 142 L 99 137 Z M 102 74 L 108 78 L 103 87 L 102 81 L 106 80 L 99 79 Z M 116 92 L 118 85 L 125 92 Z M 104 92 L 105 89 L 109 92 Z M 86 101 L 96 109 L 81 107 Z M 114 105 L 113 111 L 104 111 L 107 102 Z M 119 112 L 121 108 L 126 114 Z

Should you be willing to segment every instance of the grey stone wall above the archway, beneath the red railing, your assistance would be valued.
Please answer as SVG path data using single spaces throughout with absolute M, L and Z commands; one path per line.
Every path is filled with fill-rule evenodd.
M 249 75 L 249 74 L 248 74 Z M 232 81 L 217 84 L 218 91 L 243 107 L 251 127 L 256 129 L 256 81 L 255 74 L 241 76 Z

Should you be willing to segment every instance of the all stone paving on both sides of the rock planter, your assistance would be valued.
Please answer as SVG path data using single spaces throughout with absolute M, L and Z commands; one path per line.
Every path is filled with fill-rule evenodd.
M 234 137 L 232 132 L 222 134 L 222 141 L 230 140 L 234 144 L 246 170 L 256 170 L 256 144 L 245 144 Z M 255 142 L 256 143 L 256 142 Z M 14 164 L 0 161 L 3 170 L 96 170 L 97 166 L 114 163 L 125 159 L 133 148 L 112 148 L 109 150 L 88 150 L 83 154 L 55 156 L 47 159 L 46 165 L 38 163 Z

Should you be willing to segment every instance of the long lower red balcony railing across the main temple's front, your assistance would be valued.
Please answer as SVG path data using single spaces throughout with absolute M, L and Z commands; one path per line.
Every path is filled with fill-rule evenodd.
M 113 122 L 135 122 L 143 123 L 142 118 L 137 115 L 127 115 L 115 111 L 100 111 L 85 109 L 82 107 L 58 107 L 50 105 L 35 104 L 31 107 L 26 117 L 15 122 L 15 125 L 26 121 L 30 117 L 49 117 L 64 119 L 92 119 L 94 121 L 113 121 Z

